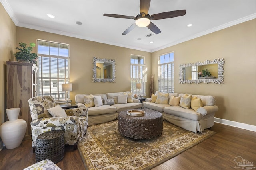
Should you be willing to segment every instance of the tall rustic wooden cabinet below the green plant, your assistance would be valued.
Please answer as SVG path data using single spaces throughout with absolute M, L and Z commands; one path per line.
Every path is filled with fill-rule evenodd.
M 27 122 L 24 139 L 31 139 L 31 116 L 28 99 L 37 96 L 38 67 L 34 63 L 6 61 L 6 108 L 20 107 L 18 119 Z

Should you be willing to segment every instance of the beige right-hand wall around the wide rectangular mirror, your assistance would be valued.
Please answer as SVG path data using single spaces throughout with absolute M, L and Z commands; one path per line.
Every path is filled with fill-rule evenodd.
M 256 125 L 256 20 L 152 53 L 157 84 L 158 56 L 174 51 L 174 91 L 216 97 L 215 117 Z M 224 58 L 224 84 L 179 84 L 179 64 Z

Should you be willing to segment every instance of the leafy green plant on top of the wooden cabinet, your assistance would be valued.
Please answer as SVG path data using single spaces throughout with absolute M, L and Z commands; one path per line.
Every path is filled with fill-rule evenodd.
M 19 47 L 16 47 L 16 49 L 20 50 L 14 56 L 16 57 L 16 61 L 22 61 L 22 62 L 28 62 L 28 63 L 36 63 L 38 60 L 38 56 L 36 53 L 31 53 L 33 50 L 33 47 L 36 46 L 35 43 L 30 43 L 29 46 L 27 47 L 26 43 L 19 43 Z

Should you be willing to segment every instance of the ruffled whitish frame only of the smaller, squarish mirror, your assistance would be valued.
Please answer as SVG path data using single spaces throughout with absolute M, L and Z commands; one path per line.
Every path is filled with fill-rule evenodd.
M 96 62 L 101 61 L 101 62 L 108 62 L 112 63 L 112 68 L 113 68 L 113 76 L 112 78 L 96 78 Z M 93 76 L 92 76 L 92 82 L 116 82 L 116 60 L 114 59 L 101 59 L 97 57 L 93 57 Z

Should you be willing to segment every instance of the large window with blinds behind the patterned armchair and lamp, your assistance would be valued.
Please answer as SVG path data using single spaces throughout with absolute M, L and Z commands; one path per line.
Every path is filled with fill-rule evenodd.
M 39 95 L 65 100 L 61 84 L 69 83 L 69 45 L 37 40 L 37 50 Z

